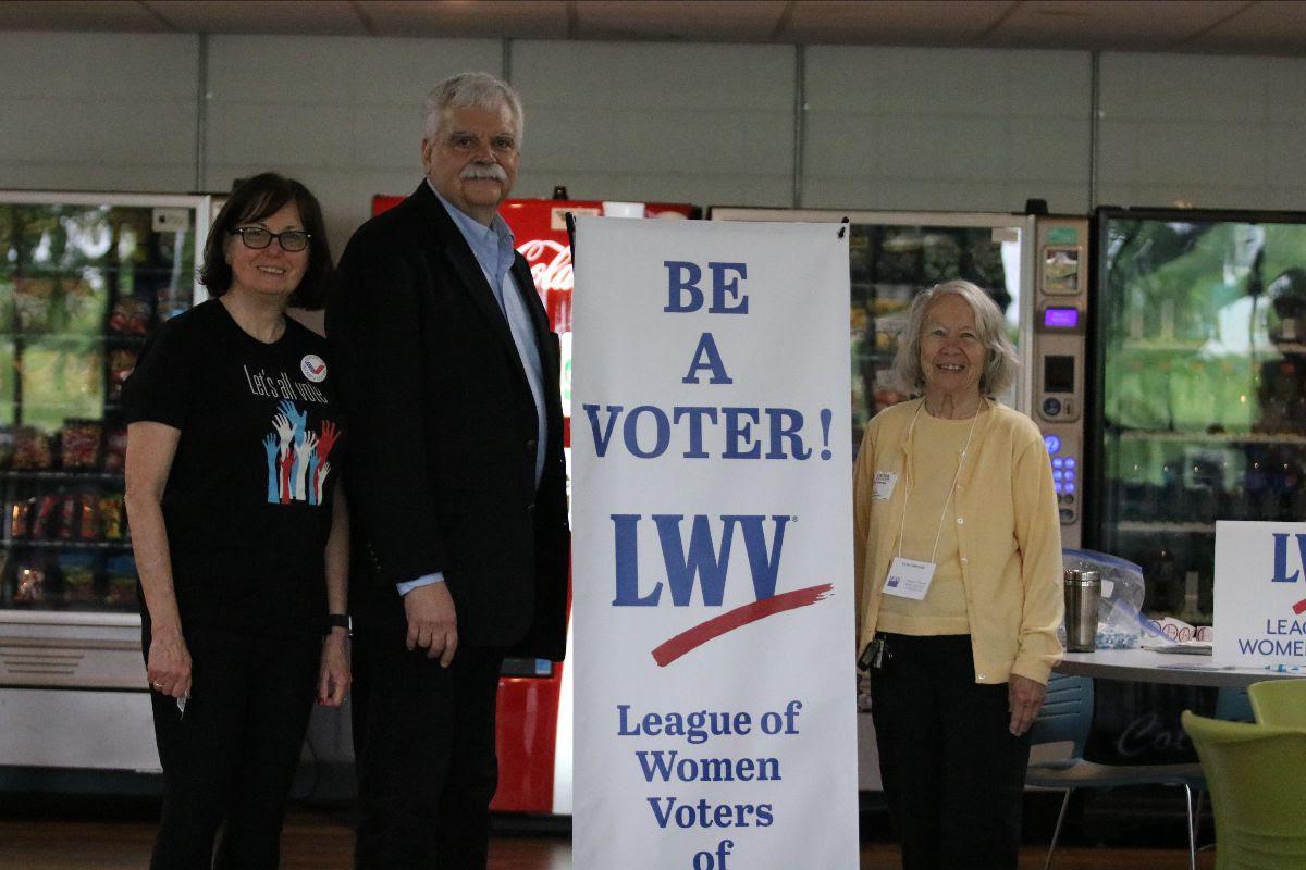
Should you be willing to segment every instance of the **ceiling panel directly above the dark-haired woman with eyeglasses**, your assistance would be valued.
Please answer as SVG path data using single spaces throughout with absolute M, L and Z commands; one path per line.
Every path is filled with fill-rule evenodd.
M 367 30 L 347 0 L 278 0 L 217 3 L 214 0 L 144 0 L 180 33 L 302 34 L 360 37 Z

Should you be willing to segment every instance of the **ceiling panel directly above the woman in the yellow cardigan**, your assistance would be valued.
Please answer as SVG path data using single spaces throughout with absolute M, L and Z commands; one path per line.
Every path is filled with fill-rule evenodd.
M 803 0 L 794 4 L 782 40 L 888 46 L 960 46 L 1019 7 L 1013 0 Z

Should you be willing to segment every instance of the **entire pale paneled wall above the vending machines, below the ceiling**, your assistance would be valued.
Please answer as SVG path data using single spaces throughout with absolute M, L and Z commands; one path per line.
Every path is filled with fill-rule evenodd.
M 1302 59 L 1102 55 L 1092 197 L 1088 52 L 210 37 L 201 123 L 200 37 L 13 31 L 0 188 L 222 190 L 276 168 L 317 193 L 338 254 L 374 193 L 419 180 L 426 91 L 500 73 L 505 46 L 520 196 L 788 206 L 801 129 L 807 207 L 1306 209 Z

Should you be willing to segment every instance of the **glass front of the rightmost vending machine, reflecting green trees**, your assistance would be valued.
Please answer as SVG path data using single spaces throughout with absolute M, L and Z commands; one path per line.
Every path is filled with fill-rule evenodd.
M 1306 517 L 1306 214 L 1097 220 L 1098 548 L 1209 625 L 1216 519 Z

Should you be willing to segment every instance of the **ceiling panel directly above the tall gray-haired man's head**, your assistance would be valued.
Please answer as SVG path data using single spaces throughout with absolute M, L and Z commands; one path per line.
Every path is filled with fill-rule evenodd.
M 357 5 L 381 37 L 567 37 L 565 0 L 363 0 Z

